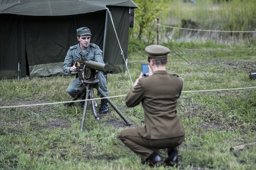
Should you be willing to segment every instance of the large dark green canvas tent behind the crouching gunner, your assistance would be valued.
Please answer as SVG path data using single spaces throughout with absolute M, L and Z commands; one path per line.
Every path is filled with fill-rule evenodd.
M 130 10 L 137 7 L 132 0 L 0 3 L 0 79 L 62 75 L 66 53 L 78 44 L 76 29 L 81 27 L 90 28 L 90 42 L 99 45 L 113 72 L 125 71 Z

